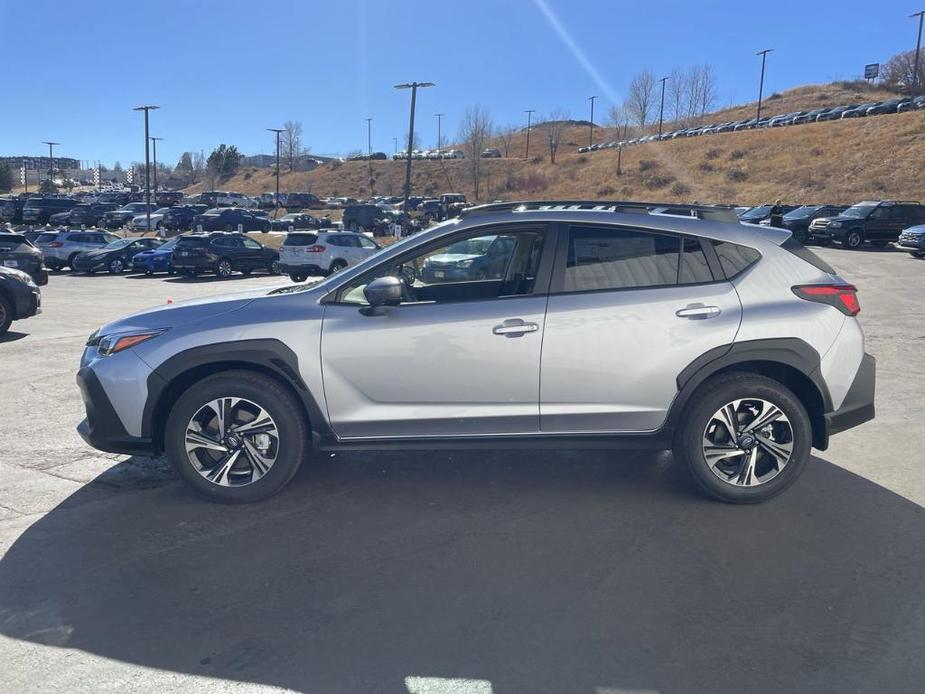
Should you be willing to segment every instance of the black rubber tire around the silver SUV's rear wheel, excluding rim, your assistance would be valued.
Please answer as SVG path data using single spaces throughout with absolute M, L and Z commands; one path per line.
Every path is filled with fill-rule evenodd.
M 736 486 L 713 472 L 703 450 L 705 431 L 713 415 L 734 400 L 761 398 L 778 407 L 789 420 L 792 451 L 783 469 L 767 482 Z M 806 408 L 781 383 L 747 372 L 731 372 L 708 380 L 690 399 L 675 439 L 674 455 L 686 462 L 692 476 L 710 496 L 733 504 L 753 504 L 777 496 L 793 484 L 809 459 L 812 425 Z

